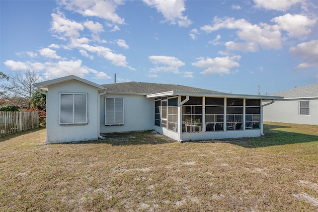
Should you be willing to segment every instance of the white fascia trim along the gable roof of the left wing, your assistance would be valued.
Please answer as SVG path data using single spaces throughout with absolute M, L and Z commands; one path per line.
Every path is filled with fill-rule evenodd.
M 94 87 L 96 87 L 98 89 L 106 90 L 106 88 L 104 86 L 101 86 L 99 84 L 96 84 L 94 82 L 88 81 L 86 79 L 80 78 L 80 77 L 75 76 L 75 75 L 69 75 L 69 76 L 64 76 L 64 77 L 60 77 L 60 78 L 56 78 L 56 79 L 47 80 L 47 81 L 44 81 L 44 82 L 38 82 L 38 83 L 33 84 L 33 86 L 43 89 L 43 88 L 47 88 L 50 85 L 61 83 L 61 82 L 66 82 L 66 81 L 70 81 L 70 80 L 73 80 L 73 79 L 78 80 L 78 81 L 83 82 L 83 83 L 86 83 L 86 84 L 89 84 L 89 85 L 94 86 Z

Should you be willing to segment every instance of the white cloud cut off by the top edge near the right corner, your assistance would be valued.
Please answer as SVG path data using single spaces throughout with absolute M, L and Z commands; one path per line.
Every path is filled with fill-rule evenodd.
M 286 11 L 292 5 L 304 0 L 254 0 L 255 7 Z

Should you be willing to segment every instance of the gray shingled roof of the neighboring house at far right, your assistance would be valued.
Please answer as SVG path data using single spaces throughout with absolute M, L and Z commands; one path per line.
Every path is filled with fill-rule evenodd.
M 273 96 L 284 96 L 284 98 L 318 97 L 318 84 L 305 85 L 302 87 L 274 93 Z

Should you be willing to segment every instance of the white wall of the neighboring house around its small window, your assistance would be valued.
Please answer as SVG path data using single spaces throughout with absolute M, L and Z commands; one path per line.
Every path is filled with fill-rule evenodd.
M 299 101 L 310 101 L 310 115 L 299 115 Z M 263 104 L 267 103 L 263 101 Z M 263 108 L 263 121 L 318 125 L 318 98 L 276 100 Z

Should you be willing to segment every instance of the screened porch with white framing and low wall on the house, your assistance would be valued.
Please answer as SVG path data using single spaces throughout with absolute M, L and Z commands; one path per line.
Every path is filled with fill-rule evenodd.
M 155 130 L 178 141 L 258 137 L 262 99 L 272 96 L 171 91 L 155 99 Z

